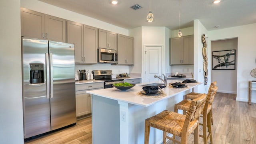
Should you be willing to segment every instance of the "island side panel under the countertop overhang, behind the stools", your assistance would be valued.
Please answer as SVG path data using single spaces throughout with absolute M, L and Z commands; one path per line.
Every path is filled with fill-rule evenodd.
M 128 124 L 128 126 L 122 125 L 122 122 L 120 121 L 120 131 L 126 132 L 128 127 L 128 144 L 144 144 L 145 119 L 150 118 L 151 116 L 154 116 L 163 110 L 174 111 L 174 104 L 182 101 L 183 96 L 188 92 L 189 90 L 148 107 L 128 104 L 128 120 L 126 120 L 126 124 Z M 150 128 L 149 144 L 162 144 L 162 134 L 162 130 Z M 120 140 L 126 138 L 127 136 L 120 135 Z

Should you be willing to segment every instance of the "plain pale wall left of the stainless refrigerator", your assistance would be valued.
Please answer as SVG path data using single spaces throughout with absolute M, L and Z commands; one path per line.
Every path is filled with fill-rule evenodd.
M 20 0 L 0 1 L 0 140 L 23 144 Z

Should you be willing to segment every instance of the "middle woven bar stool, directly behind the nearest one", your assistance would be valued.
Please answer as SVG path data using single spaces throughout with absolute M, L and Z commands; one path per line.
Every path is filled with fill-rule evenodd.
M 211 112 L 212 112 L 212 102 L 214 100 L 214 96 L 218 90 L 217 86 L 211 88 L 208 91 L 206 103 L 203 105 L 204 108 L 201 112 L 203 117 L 203 123 L 200 124 L 203 126 L 203 135 L 199 135 L 200 137 L 204 138 L 204 144 L 207 144 L 207 141 L 210 138 L 210 143 L 212 144 L 212 121 L 211 121 Z M 178 112 L 178 110 L 187 111 L 189 109 L 189 105 L 191 104 L 192 100 L 182 100 L 178 104 L 174 105 L 174 112 Z M 208 128 L 208 135 L 206 133 L 206 127 Z

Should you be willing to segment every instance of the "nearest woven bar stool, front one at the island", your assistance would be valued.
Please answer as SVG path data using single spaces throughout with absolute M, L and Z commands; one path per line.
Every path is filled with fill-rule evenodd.
M 198 118 L 202 111 L 202 105 L 206 101 L 206 94 L 200 98 L 192 100 L 186 115 L 178 114 L 164 110 L 159 114 L 147 118 L 145 120 L 145 141 L 144 144 L 149 142 L 150 127 L 157 128 L 164 131 L 163 142 L 166 144 L 166 138 L 180 144 L 188 143 L 188 135 L 194 132 L 194 143 L 198 144 Z M 166 132 L 174 135 L 173 138 L 166 136 Z M 181 141 L 175 140 L 175 135 L 181 137 Z

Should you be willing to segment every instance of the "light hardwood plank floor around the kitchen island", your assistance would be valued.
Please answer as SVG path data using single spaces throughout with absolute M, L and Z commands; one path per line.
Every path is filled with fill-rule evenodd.
M 256 103 L 249 105 L 248 102 L 236 101 L 235 94 L 217 93 L 213 102 L 213 118 L 214 144 L 256 144 Z M 199 138 L 199 142 L 203 144 L 203 139 Z M 25 144 L 92 144 L 91 117 Z M 193 135 L 189 136 L 188 144 L 194 144 Z

